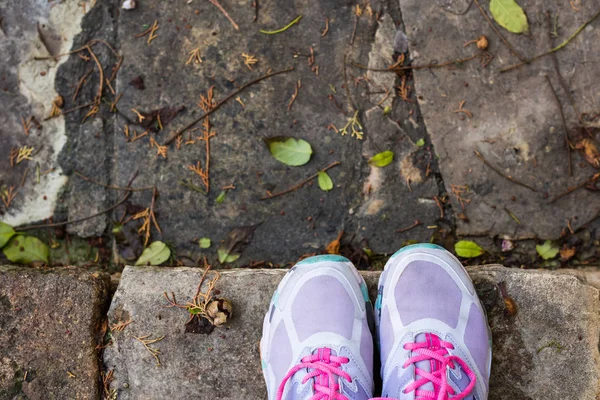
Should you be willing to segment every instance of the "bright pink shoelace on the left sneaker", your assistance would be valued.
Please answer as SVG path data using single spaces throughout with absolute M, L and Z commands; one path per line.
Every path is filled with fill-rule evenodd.
M 301 362 L 290 369 L 283 377 L 279 389 L 277 389 L 277 400 L 282 400 L 286 383 L 296 372 L 302 369 L 310 370 L 302 379 L 302 384 L 315 378 L 313 384 L 315 395 L 310 400 L 348 400 L 346 396 L 340 393 L 340 385 L 337 383 L 338 377 L 352 383 L 350 375 L 340 369 L 341 365 L 348 363 L 348 361 L 347 357 L 331 355 L 331 349 L 329 348 L 318 349 L 317 354 L 303 357 Z

